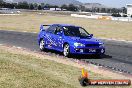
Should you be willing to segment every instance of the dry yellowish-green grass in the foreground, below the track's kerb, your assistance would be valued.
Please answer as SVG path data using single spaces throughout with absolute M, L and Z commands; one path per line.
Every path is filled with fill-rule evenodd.
M 89 74 L 91 79 L 105 79 L 91 71 Z M 78 82 L 80 75 L 80 69 L 73 66 L 0 49 L 0 88 L 82 88 Z

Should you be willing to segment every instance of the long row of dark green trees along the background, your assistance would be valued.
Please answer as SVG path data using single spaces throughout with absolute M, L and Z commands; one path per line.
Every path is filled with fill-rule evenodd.
M 85 8 L 85 6 L 75 6 L 73 4 L 69 5 L 50 5 L 45 3 L 27 3 L 24 2 L 18 2 L 18 3 L 6 3 L 3 0 L 0 0 L 0 8 L 11 8 L 11 9 L 30 9 L 30 10 L 42 10 L 42 9 L 48 9 L 48 8 L 60 8 L 61 10 L 67 10 L 67 11 L 85 11 L 85 12 L 100 12 L 100 13 L 127 13 L 127 9 L 125 7 L 122 8 Z

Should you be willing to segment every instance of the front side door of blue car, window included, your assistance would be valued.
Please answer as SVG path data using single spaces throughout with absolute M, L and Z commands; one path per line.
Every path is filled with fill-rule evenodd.
M 58 34 L 59 33 L 59 34 Z M 56 26 L 55 33 L 53 35 L 53 40 L 55 42 L 54 48 L 56 50 L 63 50 L 63 29 L 60 26 Z

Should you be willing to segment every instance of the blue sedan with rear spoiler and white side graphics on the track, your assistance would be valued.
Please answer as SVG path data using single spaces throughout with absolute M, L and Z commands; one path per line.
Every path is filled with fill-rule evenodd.
M 104 43 L 93 38 L 93 34 L 82 27 L 68 24 L 41 25 L 38 43 L 41 51 L 57 50 L 66 57 L 71 54 L 101 56 L 105 53 Z

